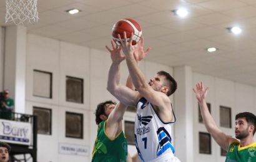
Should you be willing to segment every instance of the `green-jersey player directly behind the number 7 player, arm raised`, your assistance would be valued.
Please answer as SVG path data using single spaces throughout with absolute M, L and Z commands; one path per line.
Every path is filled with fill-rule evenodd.
M 126 105 L 116 105 L 112 101 L 97 106 L 96 123 L 99 126 L 92 161 L 127 160 L 127 140 L 122 131 L 122 115 L 125 110 Z

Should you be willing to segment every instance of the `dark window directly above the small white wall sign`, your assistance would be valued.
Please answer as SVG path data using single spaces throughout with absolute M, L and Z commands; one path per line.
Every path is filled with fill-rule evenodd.
M 84 138 L 82 113 L 66 112 L 66 137 Z

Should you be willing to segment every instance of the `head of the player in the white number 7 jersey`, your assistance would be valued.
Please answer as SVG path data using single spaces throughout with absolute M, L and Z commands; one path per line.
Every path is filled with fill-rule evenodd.
M 150 79 L 149 85 L 159 92 L 164 92 L 167 96 L 172 95 L 177 89 L 177 82 L 165 71 L 157 72 L 154 78 Z

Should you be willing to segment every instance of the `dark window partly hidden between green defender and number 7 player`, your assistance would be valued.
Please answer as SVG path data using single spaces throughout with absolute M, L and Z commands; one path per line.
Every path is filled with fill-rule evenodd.
M 135 145 L 134 140 L 134 122 L 124 121 L 124 130 L 126 133 L 128 145 Z

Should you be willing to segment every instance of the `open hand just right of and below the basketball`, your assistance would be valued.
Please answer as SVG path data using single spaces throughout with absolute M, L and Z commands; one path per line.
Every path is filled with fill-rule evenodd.
M 144 59 L 145 55 L 150 51 L 150 47 L 147 47 L 146 50 L 144 50 L 144 38 L 141 37 L 140 41 L 137 43 L 137 47 L 134 49 L 134 59 L 136 61 L 140 61 Z

